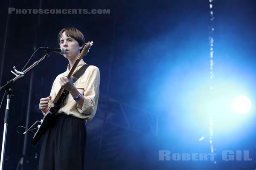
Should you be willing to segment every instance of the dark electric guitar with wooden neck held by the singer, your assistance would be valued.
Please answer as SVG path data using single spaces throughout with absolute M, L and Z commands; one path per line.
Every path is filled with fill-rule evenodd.
M 88 41 L 86 45 L 84 46 L 83 50 L 79 54 L 78 58 L 76 59 L 75 64 L 71 68 L 69 74 L 67 75 L 67 78 L 71 78 L 74 71 L 76 70 L 76 67 L 79 63 L 79 61 L 82 59 L 83 56 L 86 56 L 87 53 L 90 50 L 90 47 L 93 45 L 93 41 Z M 41 138 L 41 136 L 46 132 L 46 130 L 55 123 L 55 113 L 61 108 L 61 104 L 63 103 L 65 97 L 67 96 L 68 91 L 61 87 L 61 89 L 58 91 L 58 94 L 56 95 L 55 99 L 52 102 L 52 105 L 50 106 L 47 113 L 44 115 L 44 118 L 41 119 L 41 125 L 38 125 L 38 130 L 36 131 L 33 139 L 32 139 L 32 145 L 36 146 Z

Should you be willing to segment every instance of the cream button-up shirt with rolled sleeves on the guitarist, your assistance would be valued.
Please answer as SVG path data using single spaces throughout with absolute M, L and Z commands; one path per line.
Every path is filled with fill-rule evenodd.
M 86 63 L 81 59 L 79 64 L 76 67 L 75 72 L 81 68 Z M 70 71 L 70 65 L 67 66 L 67 71 L 59 74 L 52 85 L 52 90 L 50 95 L 52 96 L 52 100 L 49 101 L 48 105 L 50 106 L 55 99 L 58 91 L 61 88 L 60 77 L 67 76 Z M 94 65 L 90 65 L 84 74 L 77 79 L 74 83 L 77 90 L 84 96 L 84 103 L 82 108 L 79 108 L 76 101 L 73 99 L 72 95 L 69 93 L 64 99 L 64 103 L 62 107 L 57 111 L 56 114 L 62 113 L 71 115 L 74 117 L 78 117 L 85 120 L 93 119 L 98 105 L 99 100 L 99 84 L 100 84 L 100 75 L 99 68 Z

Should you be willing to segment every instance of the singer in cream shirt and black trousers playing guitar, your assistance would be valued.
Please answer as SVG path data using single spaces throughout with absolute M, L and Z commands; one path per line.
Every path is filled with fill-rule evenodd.
M 66 48 L 67 70 L 59 74 L 48 97 L 40 99 L 39 108 L 45 114 L 62 87 L 69 91 L 61 108 L 55 113 L 56 121 L 44 134 L 39 170 L 83 170 L 87 120 L 92 120 L 98 105 L 99 68 L 90 65 L 75 83 L 66 76 L 76 62 L 84 45 L 84 35 L 76 28 L 63 28 L 58 43 Z M 75 71 L 86 63 L 80 60 Z

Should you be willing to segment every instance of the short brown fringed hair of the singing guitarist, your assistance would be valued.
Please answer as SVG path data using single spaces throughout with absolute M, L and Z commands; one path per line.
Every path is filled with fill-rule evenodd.
M 84 42 L 85 42 L 84 41 L 84 34 L 82 34 L 81 31 L 79 31 L 76 28 L 63 28 L 58 34 L 58 43 L 59 43 L 59 45 L 60 45 L 61 35 L 64 32 L 65 32 L 67 37 L 71 37 L 71 38 L 75 39 L 78 42 L 79 47 L 84 45 Z

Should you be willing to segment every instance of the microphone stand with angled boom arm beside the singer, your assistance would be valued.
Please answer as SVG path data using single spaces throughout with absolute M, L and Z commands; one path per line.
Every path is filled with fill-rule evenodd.
M 4 155 L 5 155 L 5 147 L 6 147 L 6 135 L 7 135 L 7 127 L 8 127 L 8 122 L 9 122 L 9 105 L 10 105 L 10 99 L 12 95 L 12 84 L 15 82 L 17 79 L 21 78 L 24 76 L 26 72 L 31 70 L 33 67 L 39 64 L 42 60 L 48 58 L 50 56 L 50 53 L 44 54 L 44 57 L 39 59 L 38 61 L 34 62 L 29 68 L 24 70 L 23 72 L 17 71 L 15 66 L 13 67 L 14 71 L 11 71 L 16 77 L 14 79 L 9 80 L 5 85 L 0 87 L 0 91 L 6 91 L 7 93 L 7 102 L 6 102 L 6 111 L 4 115 L 4 126 L 3 126 L 3 143 L 2 143 L 2 151 L 1 151 L 1 160 L 0 160 L 0 170 L 3 170 L 3 163 L 4 163 Z

